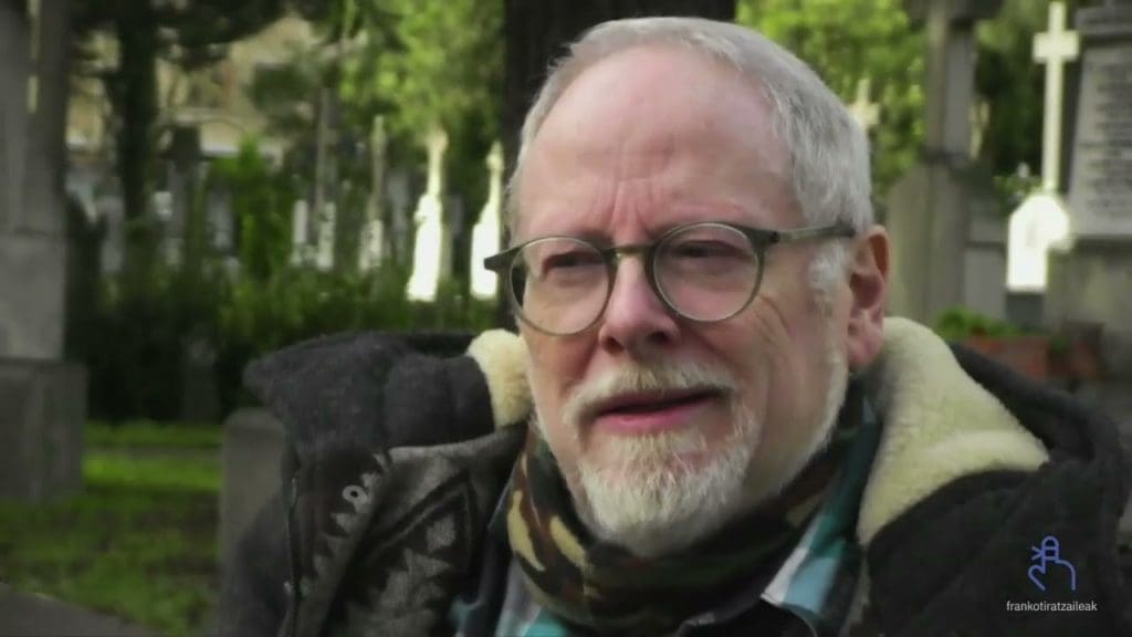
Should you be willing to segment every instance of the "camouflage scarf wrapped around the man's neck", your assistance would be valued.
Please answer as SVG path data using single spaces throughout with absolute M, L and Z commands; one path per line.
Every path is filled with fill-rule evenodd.
M 774 575 L 833 482 L 851 433 L 839 426 L 825 451 L 758 510 L 683 554 L 643 560 L 589 534 L 554 456 L 532 431 L 507 494 L 511 546 L 534 600 L 573 628 L 668 632 L 739 586 Z

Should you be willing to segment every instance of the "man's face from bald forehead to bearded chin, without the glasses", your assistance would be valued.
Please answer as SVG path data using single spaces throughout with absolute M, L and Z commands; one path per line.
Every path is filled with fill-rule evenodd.
M 631 49 L 577 77 L 529 147 L 516 241 L 801 227 L 789 170 L 757 87 L 691 52 Z M 626 258 L 589 330 L 521 326 L 537 426 L 591 530 L 640 554 L 679 549 L 775 493 L 821 444 L 844 388 L 848 295 L 817 303 L 813 255 L 774 248 L 758 296 L 719 323 L 672 314 Z

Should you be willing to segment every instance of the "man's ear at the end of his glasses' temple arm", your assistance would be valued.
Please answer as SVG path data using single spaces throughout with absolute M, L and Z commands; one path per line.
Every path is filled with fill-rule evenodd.
M 869 228 L 856 240 L 849 258 L 849 368 L 861 370 L 884 343 L 884 301 L 889 287 L 889 233 Z

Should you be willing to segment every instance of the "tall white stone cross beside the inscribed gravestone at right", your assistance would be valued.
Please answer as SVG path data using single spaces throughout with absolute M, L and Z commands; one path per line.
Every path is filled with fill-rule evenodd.
M 1057 192 L 1061 172 L 1063 66 L 1081 52 L 1077 32 L 1065 31 L 1065 5 L 1049 5 L 1049 31 L 1034 36 L 1034 60 L 1046 65 L 1046 103 L 1041 134 L 1041 187 Z

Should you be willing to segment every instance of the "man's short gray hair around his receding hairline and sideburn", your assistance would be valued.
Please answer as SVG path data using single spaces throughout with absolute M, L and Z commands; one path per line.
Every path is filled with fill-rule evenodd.
M 518 158 L 507 185 L 507 227 L 518 227 L 518 175 L 542 122 L 566 88 L 585 69 L 627 49 L 684 48 L 739 71 L 766 97 L 772 130 L 790 158 L 794 195 L 808 224 L 841 222 L 858 232 L 873 224 L 868 139 L 840 99 L 801 60 L 764 35 L 703 18 L 649 17 L 600 24 L 573 43 L 550 70 L 520 136 Z M 815 256 L 811 281 L 822 297 L 842 275 L 844 241 L 831 241 Z M 823 299 L 825 300 L 825 299 Z

